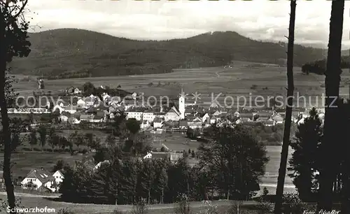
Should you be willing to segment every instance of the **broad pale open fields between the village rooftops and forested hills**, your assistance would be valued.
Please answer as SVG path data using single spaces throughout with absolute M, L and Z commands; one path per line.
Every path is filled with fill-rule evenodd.
M 342 80 L 346 83 L 349 80 L 349 73 L 344 71 Z M 302 74 L 300 68 L 294 69 L 295 79 L 295 96 L 309 96 L 306 106 L 321 104 L 321 94 L 324 93 L 324 76 L 310 74 L 309 76 Z M 195 92 L 201 94 L 197 99 L 198 104 L 210 102 L 218 96 L 217 99 L 221 105 L 225 96 L 228 98 L 226 104 L 228 106 L 243 106 L 244 99 L 239 96 L 246 97 L 246 106 L 255 105 L 255 97 L 262 96 L 267 99 L 268 96 L 284 96 L 286 94 L 286 68 L 268 64 L 254 64 L 251 62 L 234 62 L 232 68 L 214 67 L 200 69 L 177 69 L 172 73 L 148 74 L 139 76 L 115 76 L 115 77 L 99 77 L 99 78 L 76 78 L 65 80 L 46 80 L 45 90 L 57 91 L 63 90 L 71 85 L 79 86 L 90 81 L 95 86 L 108 85 L 116 87 L 121 85 L 123 90 L 130 92 L 144 92 L 145 96 L 155 96 L 160 101 L 160 96 L 168 96 L 170 99 L 176 98 L 183 91 L 188 94 Z M 153 85 L 151 85 L 151 83 Z M 349 89 L 342 84 L 340 94 L 348 94 Z M 15 90 L 22 95 L 32 94 L 36 90 L 36 82 L 21 81 L 15 84 Z M 212 94 L 214 93 L 214 94 Z M 250 94 L 251 93 L 251 94 Z M 249 100 L 251 97 L 251 101 Z M 186 102 L 193 103 L 193 97 L 188 96 Z M 310 99 L 310 100 L 309 100 Z M 299 99 L 300 105 L 303 105 L 303 99 Z M 295 104 L 297 100 L 295 99 Z M 158 103 L 159 104 L 159 103 Z

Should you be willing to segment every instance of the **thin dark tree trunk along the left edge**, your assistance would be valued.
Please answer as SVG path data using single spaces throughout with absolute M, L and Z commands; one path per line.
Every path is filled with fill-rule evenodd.
M 10 162 L 11 162 L 11 134 L 9 128 L 9 120 L 7 113 L 7 103 L 5 96 L 5 83 L 6 83 L 6 55 L 7 55 L 7 42 L 6 42 L 6 23 L 3 13 L 0 11 L 0 108 L 3 126 L 3 180 L 5 181 L 6 193 L 8 199 L 8 206 L 15 208 L 15 193 L 13 192 L 13 183 L 11 180 Z M 12 212 L 16 213 L 16 212 Z

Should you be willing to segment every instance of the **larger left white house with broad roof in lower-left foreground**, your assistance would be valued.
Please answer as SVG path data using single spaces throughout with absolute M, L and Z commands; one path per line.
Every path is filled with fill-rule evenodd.
M 23 189 L 42 190 L 43 188 L 55 192 L 56 187 L 53 187 L 55 178 L 50 172 L 45 169 L 32 169 L 25 179 L 22 180 L 21 185 Z

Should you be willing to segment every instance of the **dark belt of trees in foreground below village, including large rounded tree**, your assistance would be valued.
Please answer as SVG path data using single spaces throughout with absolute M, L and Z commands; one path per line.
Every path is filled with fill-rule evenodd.
M 211 127 L 206 137 L 210 141 L 198 148 L 200 162 L 195 166 L 187 157 L 177 162 L 167 157 L 143 159 L 147 143 L 134 141 L 131 149 L 130 139 L 122 143 L 111 139 L 94 155 L 94 164 L 104 163 L 99 168 L 84 162 L 62 167 L 62 199 L 101 204 L 134 204 L 141 199 L 149 204 L 173 203 L 182 194 L 197 201 L 250 199 L 265 173 L 265 147 L 244 127 Z

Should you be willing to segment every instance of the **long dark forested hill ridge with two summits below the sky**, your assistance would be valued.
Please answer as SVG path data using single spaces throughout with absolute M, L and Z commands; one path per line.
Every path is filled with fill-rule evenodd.
M 31 54 L 13 61 L 13 73 L 51 78 L 118 76 L 223 66 L 232 59 L 273 64 L 286 59 L 286 45 L 254 41 L 232 31 L 135 41 L 83 29 L 55 29 L 29 34 L 29 40 Z M 295 45 L 295 65 L 321 59 L 323 52 Z

